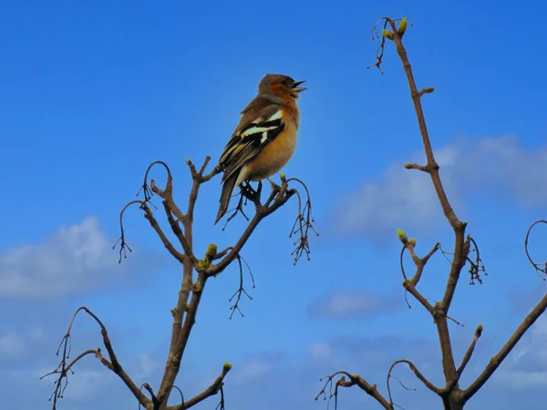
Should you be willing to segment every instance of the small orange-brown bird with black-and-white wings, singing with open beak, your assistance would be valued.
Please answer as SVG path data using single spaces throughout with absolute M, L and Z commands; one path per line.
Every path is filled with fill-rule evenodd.
M 222 194 L 216 225 L 230 204 L 235 187 L 243 181 L 260 181 L 277 173 L 296 149 L 300 113 L 296 100 L 307 88 L 281 74 L 266 74 L 256 97 L 243 109 L 243 116 L 222 151 L 219 166 Z

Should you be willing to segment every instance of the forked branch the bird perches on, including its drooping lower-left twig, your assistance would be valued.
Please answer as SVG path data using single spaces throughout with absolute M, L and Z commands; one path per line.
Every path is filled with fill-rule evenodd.
M 308 243 L 308 231 L 312 230 L 313 227 L 311 222 L 313 221 L 311 216 L 311 200 L 309 197 L 309 192 L 305 187 L 304 183 L 300 179 L 285 179 L 282 174 L 282 184 L 277 186 L 272 184 L 272 190 L 269 196 L 265 201 L 262 201 L 260 198 L 260 192 L 258 194 L 255 192 L 252 194 L 249 192 L 243 192 L 243 195 L 246 199 L 250 199 L 254 204 L 255 213 L 253 219 L 249 221 L 247 228 L 243 231 L 240 239 L 233 245 L 223 251 L 218 251 L 215 244 L 211 244 L 207 251 L 205 251 L 204 257 L 200 260 L 196 256 L 196 251 L 193 246 L 193 219 L 194 219 L 194 210 L 198 200 L 199 192 L 201 185 L 214 176 L 221 172 L 221 169 L 217 166 L 212 169 L 211 172 L 205 173 L 207 165 L 210 162 L 210 157 L 207 157 L 199 169 L 194 166 L 190 159 L 186 160 L 188 168 L 190 169 L 191 174 L 191 190 L 188 196 L 188 206 L 185 211 L 181 210 L 181 207 L 177 204 L 173 196 L 173 178 L 169 166 L 163 161 L 155 161 L 150 164 L 148 169 L 145 172 L 144 180 L 139 190 L 138 195 L 142 192 L 143 198 L 141 200 L 132 200 L 130 201 L 120 212 L 119 214 L 119 225 L 120 225 L 120 238 L 116 242 L 114 247 L 118 244 L 119 249 L 119 261 L 122 257 L 127 257 L 126 250 L 129 249 L 129 245 L 126 242 L 126 233 L 124 230 L 124 214 L 125 211 L 131 205 L 139 205 L 139 209 L 143 211 L 143 216 L 146 220 L 149 221 L 151 228 L 156 232 L 163 246 L 169 251 L 170 255 L 181 263 L 182 267 L 182 281 L 181 288 L 179 290 L 178 299 L 175 307 L 172 309 L 171 313 L 173 316 L 172 327 L 171 327 L 171 338 L 170 338 L 170 349 L 165 364 L 165 372 L 162 376 L 160 387 L 158 388 L 158 393 L 155 394 L 150 384 L 142 384 L 141 389 L 133 383 L 129 378 L 128 374 L 125 373 L 121 364 L 119 364 L 118 358 L 112 348 L 110 340 L 108 338 L 108 333 L 103 325 L 103 323 L 98 320 L 98 317 L 88 310 L 87 307 L 81 307 L 77 312 L 83 310 L 91 315 L 101 328 L 101 334 L 103 335 L 103 343 L 105 345 L 106 351 L 108 352 L 108 357 L 103 357 L 100 349 L 90 349 L 82 354 L 79 354 L 76 359 L 72 362 L 68 361 L 70 354 L 70 331 L 72 328 L 72 323 L 74 318 L 70 323 L 68 332 L 63 338 L 63 342 L 59 347 L 59 352 L 63 351 L 63 357 L 61 363 L 57 366 L 57 369 L 54 370 L 51 374 L 58 374 L 56 390 L 52 395 L 54 402 L 54 409 L 57 405 L 57 399 L 62 397 L 63 392 L 67 386 L 67 375 L 69 372 L 72 372 L 72 368 L 79 360 L 88 355 L 95 355 L 100 363 L 104 364 L 110 371 L 115 374 L 118 374 L 119 378 L 128 385 L 129 390 L 137 397 L 139 400 L 139 405 L 147 408 L 153 408 L 154 410 L 166 410 L 166 409 L 186 409 L 190 408 L 193 405 L 197 405 L 202 400 L 206 399 L 211 395 L 216 395 L 221 393 L 221 400 L 218 408 L 221 410 L 224 406 L 224 395 L 223 395 L 223 380 L 226 374 L 231 369 L 230 364 L 225 364 L 222 368 L 222 373 L 217 377 L 217 379 L 201 394 L 196 395 L 190 400 L 185 401 L 183 395 L 181 395 L 181 404 L 176 406 L 168 406 L 167 402 L 170 397 L 170 392 L 173 388 L 177 388 L 174 385 L 174 381 L 179 374 L 181 369 L 181 360 L 186 349 L 186 345 L 189 341 L 191 330 L 194 323 L 196 322 L 196 315 L 198 308 L 201 302 L 201 296 L 204 292 L 205 285 L 209 278 L 217 276 L 219 273 L 223 272 L 233 261 L 238 261 L 240 268 L 240 286 L 237 292 L 234 294 L 235 302 L 232 304 L 232 314 L 236 310 L 241 313 L 239 302 L 243 295 L 250 296 L 243 288 L 243 263 L 249 269 L 251 275 L 251 280 L 253 282 L 253 273 L 251 272 L 247 262 L 243 260 L 241 251 L 243 246 L 250 239 L 253 232 L 259 225 L 259 223 L 274 213 L 275 210 L 278 210 L 284 204 L 290 200 L 293 196 L 298 198 L 298 217 L 297 220 L 298 228 L 293 231 L 296 234 L 300 235 L 300 241 L 298 241 L 297 254 L 295 261 L 297 261 L 300 256 L 305 252 L 309 255 L 309 243 Z M 167 180 L 165 186 L 160 188 L 154 179 L 150 179 L 150 171 L 153 167 L 160 165 L 167 172 Z M 149 182 L 150 180 L 150 182 Z M 299 183 L 304 187 L 306 199 L 303 201 L 301 194 L 298 190 L 289 187 L 289 182 L 294 181 Z M 158 210 L 156 206 L 151 202 L 151 199 L 154 195 L 157 195 L 161 199 L 161 204 L 167 221 L 169 222 L 170 231 L 177 239 L 177 241 L 171 241 L 168 234 L 160 226 L 157 217 L 154 215 L 154 210 Z M 309 259 L 309 258 L 308 258 Z M 75 314 L 76 317 L 76 314 Z M 62 349 L 61 349 L 62 348 Z M 58 354 L 58 352 L 57 352 Z M 150 398 L 142 393 L 142 389 L 150 394 Z M 150 407 L 151 406 L 151 407 Z

